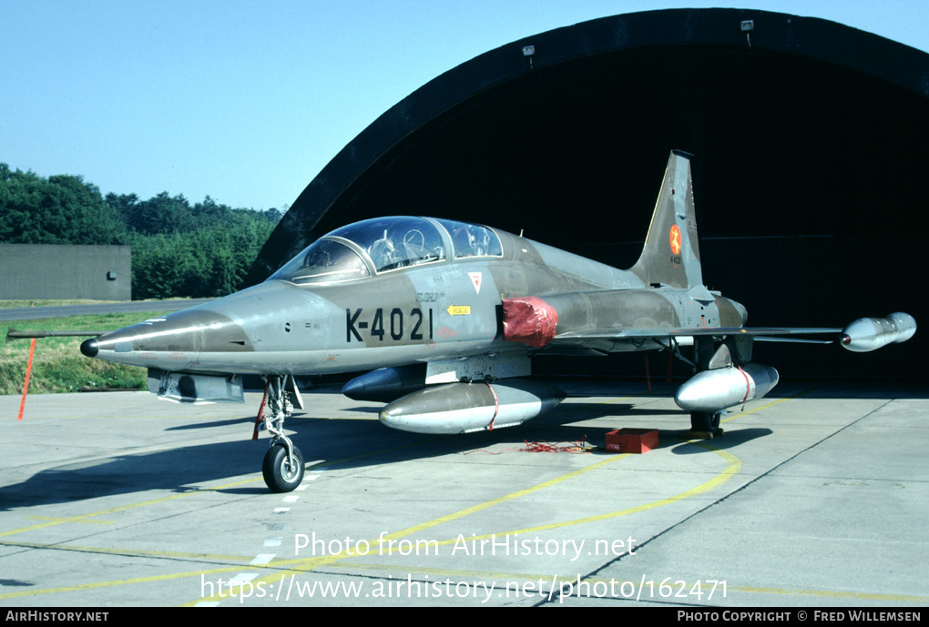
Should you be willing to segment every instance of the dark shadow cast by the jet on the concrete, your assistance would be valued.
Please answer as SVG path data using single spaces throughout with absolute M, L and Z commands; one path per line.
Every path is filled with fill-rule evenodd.
M 459 436 L 413 434 L 390 429 L 365 417 L 337 419 L 313 417 L 312 413 L 296 412 L 287 422 L 287 431 L 294 444 L 303 452 L 307 467 L 324 465 L 336 468 L 398 464 L 405 461 L 486 450 L 519 450 L 527 442 L 579 442 L 596 447 L 594 454 L 612 454 L 604 447 L 608 431 L 634 421 L 641 426 L 643 419 L 663 415 L 668 411 L 635 409 L 621 403 L 572 402 L 543 417 L 523 425 Z M 687 414 L 680 412 L 680 429 L 688 425 Z M 595 418 L 615 417 L 604 425 L 575 425 Z M 250 425 L 254 415 L 223 421 L 200 420 L 182 426 L 166 427 L 167 431 L 214 429 L 242 425 L 242 439 L 208 444 L 179 445 L 176 448 L 138 454 L 118 455 L 77 464 L 60 464 L 47 468 L 18 484 L 0 487 L 0 511 L 29 508 L 50 503 L 74 503 L 98 497 L 129 494 L 148 490 L 186 492 L 202 490 L 203 484 L 247 480 L 254 483 L 229 486 L 225 493 L 238 495 L 270 494 L 260 477 L 261 464 L 268 451 L 267 433 L 258 441 L 251 439 Z M 647 421 L 646 421 L 647 422 Z M 669 425 L 662 421 L 661 426 Z M 714 439 L 713 447 L 731 448 L 750 438 L 770 433 L 766 429 L 735 432 L 723 439 Z M 677 446 L 676 432 L 660 430 L 662 447 Z M 679 454 L 713 454 L 698 447 L 675 448 Z M 207 488 L 210 489 L 210 488 Z

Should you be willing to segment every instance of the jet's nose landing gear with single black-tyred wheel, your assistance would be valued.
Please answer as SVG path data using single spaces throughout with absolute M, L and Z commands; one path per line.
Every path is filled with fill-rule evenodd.
M 265 387 L 269 415 L 261 419 L 258 411 L 259 429 L 267 429 L 271 434 L 271 447 L 265 454 L 265 461 L 261 466 L 265 483 L 272 492 L 290 492 L 303 481 L 304 462 L 303 454 L 294 446 L 294 443 L 284 435 L 284 419 L 291 416 L 294 405 L 287 398 L 288 392 L 284 389 L 285 378 L 281 375 L 269 375 Z M 294 384 L 294 397 L 302 409 L 300 393 Z

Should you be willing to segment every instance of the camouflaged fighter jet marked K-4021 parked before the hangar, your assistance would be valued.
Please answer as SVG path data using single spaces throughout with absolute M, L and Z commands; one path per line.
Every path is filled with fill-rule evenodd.
M 271 490 L 289 491 L 304 473 L 283 431 L 294 404 L 302 409 L 295 375 L 371 371 L 344 393 L 387 402 L 387 426 L 454 434 L 556 406 L 564 395 L 528 378 L 533 356 L 666 350 L 695 372 L 674 400 L 694 432 L 712 435 L 726 408 L 778 383 L 777 371 L 752 363 L 754 340 L 826 334 L 813 341 L 865 351 L 915 333 L 904 313 L 844 330 L 745 327 L 745 307 L 703 284 L 690 158 L 671 153 L 628 270 L 468 222 L 374 218 L 321 237 L 255 287 L 81 351 L 148 368 L 150 389 L 177 401 L 242 402 L 242 374 L 264 377 L 263 473 Z

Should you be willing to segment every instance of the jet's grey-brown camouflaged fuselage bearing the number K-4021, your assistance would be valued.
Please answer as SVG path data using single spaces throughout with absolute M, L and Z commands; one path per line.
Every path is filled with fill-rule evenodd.
M 93 356 L 169 372 L 307 375 L 527 353 L 529 346 L 504 341 L 501 307 L 528 294 L 552 294 L 559 332 L 743 323 L 739 305 L 705 289 L 646 286 L 630 271 L 494 233 L 499 256 L 446 258 L 331 284 L 271 279 L 102 335 L 91 341 Z M 641 349 L 632 342 L 576 348 Z

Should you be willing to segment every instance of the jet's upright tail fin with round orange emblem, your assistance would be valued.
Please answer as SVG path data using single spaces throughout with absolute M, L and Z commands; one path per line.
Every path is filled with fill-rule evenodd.
M 629 268 L 647 285 L 691 288 L 703 284 L 690 157 L 682 150 L 671 151 L 642 255 Z

